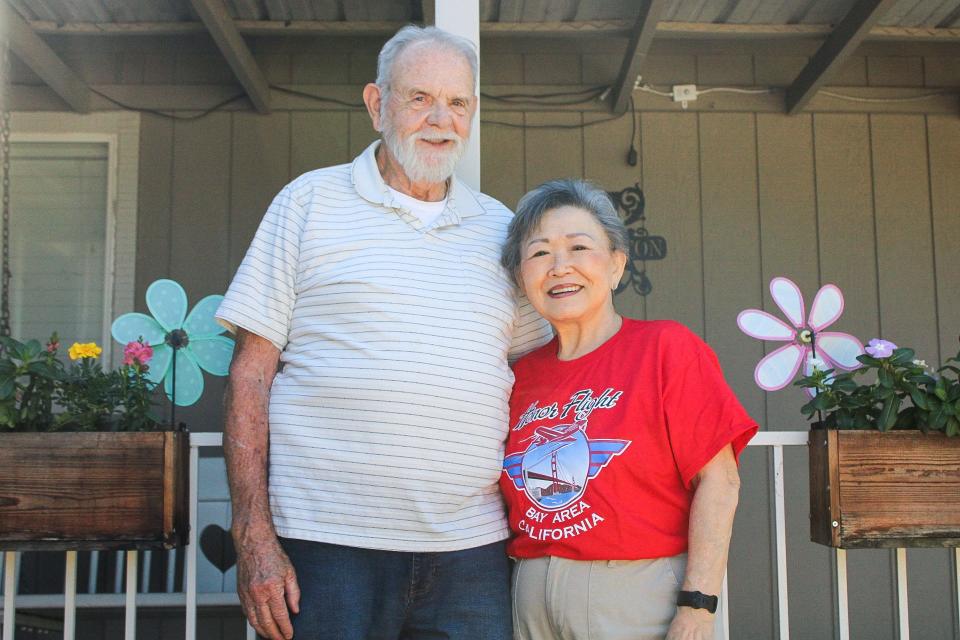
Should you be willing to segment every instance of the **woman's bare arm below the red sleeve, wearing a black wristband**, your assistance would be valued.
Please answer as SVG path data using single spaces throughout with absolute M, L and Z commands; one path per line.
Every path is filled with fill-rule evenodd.
M 720 594 L 739 493 L 737 461 L 727 445 L 694 479 L 684 591 Z M 704 609 L 677 607 L 666 640 L 709 640 L 714 616 Z

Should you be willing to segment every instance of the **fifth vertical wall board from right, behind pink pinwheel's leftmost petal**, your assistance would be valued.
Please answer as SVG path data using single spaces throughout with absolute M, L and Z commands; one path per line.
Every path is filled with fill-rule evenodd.
M 752 371 L 762 355 L 757 341 L 740 333 L 737 314 L 762 301 L 760 283 L 757 154 L 752 114 L 700 114 L 700 189 L 703 225 L 704 334 L 720 358 L 730 386 L 747 411 L 763 422 L 764 398 Z M 747 483 L 768 484 L 768 464 L 744 469 Z M 730 607 L 736 612 L 731 636 L 772 637 L 776 595 L 772 558 L 755 549 L 772 548 L 769 503 L 763 492 L 738 511 L 741 529 L 731 550 Z M 766 525 L 766 526 L 764 526 Z M 770 546 L 767 546 L 770 545 Z M 758 631 L 763 630 L 763 631 Z

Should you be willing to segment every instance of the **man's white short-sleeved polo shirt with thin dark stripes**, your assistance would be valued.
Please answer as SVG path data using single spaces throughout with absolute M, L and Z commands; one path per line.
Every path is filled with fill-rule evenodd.
M 274 524 L 394 551 L 503 540 L 507 359 L 549 326 L 499 264 L 510 210 L 453 178 L 425 227 L 394 202 L 377 144 L 284 187 L 217 311 L 282 352 Z

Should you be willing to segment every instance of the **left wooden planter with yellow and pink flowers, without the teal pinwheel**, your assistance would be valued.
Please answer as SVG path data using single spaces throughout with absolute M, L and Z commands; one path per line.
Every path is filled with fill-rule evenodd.
M 129 343 L 115 370 L 94 343 L 65 365 L 56 335 L 0 347 L 0 548 L 183 544 L 188 436 L 152 411 L 151 347 Z

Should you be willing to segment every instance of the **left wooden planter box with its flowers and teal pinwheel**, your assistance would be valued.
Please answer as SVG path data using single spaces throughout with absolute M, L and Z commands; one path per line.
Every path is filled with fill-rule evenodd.
M 0 337 L 0 549 L 186 542 L 189 435 L 172 425 L 175 407 L 200 397 L 201 369 L 229 368 L 233 341 L 213 318 L 220 299 L 188 315 L 179 284 L 154 282 L 153 315 L 113 323 L 124 345 L 115 369 L 95 343 L 74 343 L 65 358 L 56 334 L 46 345 Z M 167 419 L 155 407 L 160 387 Z

